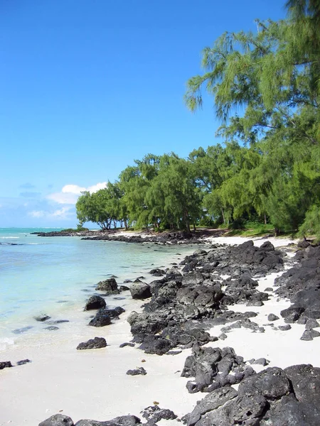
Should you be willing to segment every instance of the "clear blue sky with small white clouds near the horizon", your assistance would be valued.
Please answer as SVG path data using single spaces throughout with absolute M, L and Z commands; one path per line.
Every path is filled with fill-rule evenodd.
M 75 226 L 95 190 L 146 153 L 214 145 L 212 99 L 186 81 L 224 31 L 284 18 L 279 0 L 1 0 L 0 227 Z

